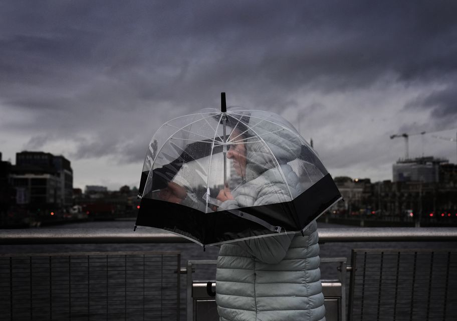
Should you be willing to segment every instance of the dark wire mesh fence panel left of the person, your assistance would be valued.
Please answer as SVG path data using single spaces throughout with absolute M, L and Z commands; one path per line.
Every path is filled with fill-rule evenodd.
M 179 320 L 180 253 L 0 256 L 3 320 Z

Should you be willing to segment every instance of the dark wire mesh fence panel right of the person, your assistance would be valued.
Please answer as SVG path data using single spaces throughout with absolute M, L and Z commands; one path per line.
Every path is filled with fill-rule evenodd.
M 355 249 L 350 320 L 457 320 L 457 250 Z

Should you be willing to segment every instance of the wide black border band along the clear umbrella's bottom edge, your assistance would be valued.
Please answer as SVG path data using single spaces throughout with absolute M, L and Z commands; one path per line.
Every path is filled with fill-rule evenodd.
M 238 210 L 280 226 L 281 231 L 297 233 L 341 199 L 332 177 L 327 174 L 292 201 Z M 135 224 L 176 233 L 203 246 L 278 234 L 242 215 L 234 215 L 232 211 L 203 213 L 180 204 L 147 198 L 141 200 Z

